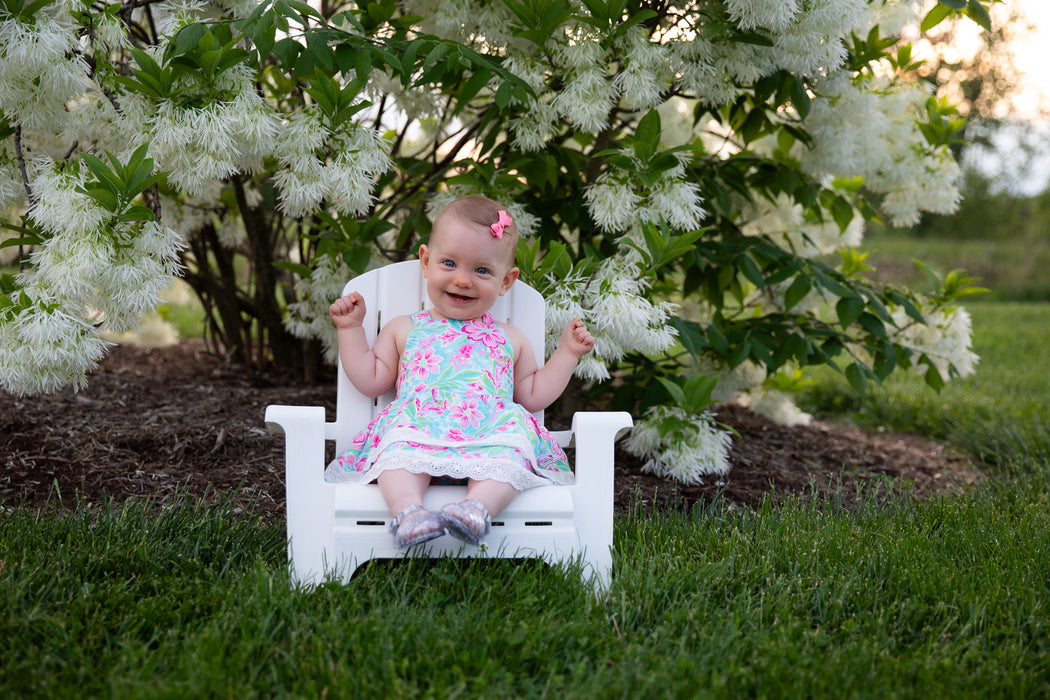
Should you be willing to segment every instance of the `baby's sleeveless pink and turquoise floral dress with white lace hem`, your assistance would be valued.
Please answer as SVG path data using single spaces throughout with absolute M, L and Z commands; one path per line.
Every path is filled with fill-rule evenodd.
M 412 317 L 397 398 L 329 465 L 329 482 L 368 483 L 386 469 L 495 479 L 519 490 L 572 484 L 565 452 L 513 402 L 513 349 L 496 320 Z

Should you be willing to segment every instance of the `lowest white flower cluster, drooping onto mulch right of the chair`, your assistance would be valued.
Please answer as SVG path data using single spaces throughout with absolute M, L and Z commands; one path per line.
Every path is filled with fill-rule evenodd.
M 642 470 L 682 484 L 701 484 L 707 474 L 729 471 L 732 437 L 710 412 L 688 415 L 678 406 L 653 406 L 634 425 L 624 446 L 645 460 Z

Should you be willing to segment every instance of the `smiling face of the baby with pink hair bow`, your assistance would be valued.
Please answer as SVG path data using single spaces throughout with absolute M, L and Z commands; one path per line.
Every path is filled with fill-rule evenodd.
M 502 239 L 488 227 L 446 216 L 435 222 L 419 259 L 435 318 L 467 320 L 487 313 L 518 279 L 512 236 Z

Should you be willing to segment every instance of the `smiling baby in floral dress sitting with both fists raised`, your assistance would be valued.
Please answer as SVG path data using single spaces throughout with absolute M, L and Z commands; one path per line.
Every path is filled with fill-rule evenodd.
M 513 219 L 497 203 L 461 197 L 438 214 L 429 243 L 419 249 L 429 311 L 391 319 L 371 348 L 360 294 L 329 311 L 354 386 L 377 397 L 396 384 L 397 398 L 326 478 L 377 481 L 399 548 L 445 532 L 477 545 L 519 491 L 574 481 L 562 448 L 531 411 L 565 390 L 594 338 L 574 319 L 540 367 L 524 333 L 489 315 L 518 279 L 517 241 Z M 435 476 L 466 479 L 466 499 L 425 510 L 423 493 Z

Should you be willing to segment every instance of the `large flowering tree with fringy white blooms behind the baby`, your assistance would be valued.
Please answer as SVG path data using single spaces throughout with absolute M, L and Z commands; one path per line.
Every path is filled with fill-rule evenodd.
M 468 192 L 657 472 L 728 468 L 714 399 L 803 420 L 805 366 L 974 366 L 971 280 L 880 289 L 856 248 L 956 207 L 962 122 L 900 35 L 988 2 L 0 2 L 5 390 L 82 385 L 178 273 L 236 359 L 331 358 L 345 279 Z

